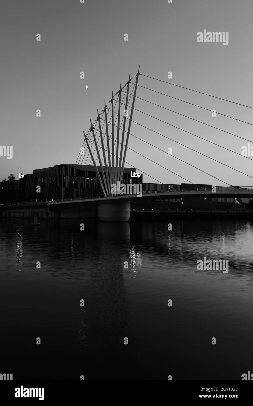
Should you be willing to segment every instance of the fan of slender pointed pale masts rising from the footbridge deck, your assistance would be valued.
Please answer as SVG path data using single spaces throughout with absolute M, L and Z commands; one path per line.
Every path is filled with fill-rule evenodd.
M 138 84 L 138 76 L 139 76 L 139 71 L 140 67 L 138 69 L 138 73 L 135 75 L 136 80 L 134 83 L 134 87 L 132 91 L 134 90 L 134 96 L 132 99 L 132 106 L 131 106 L 131 111 L 130 111 L 130 117 L 129 117 L 129 106 L 128 103 L 130 101 L 129 97 L 129 89 L 130 89 L 130 84 L 132 83 L 130 81 L 130 76 L 129 80 L 126 84 L 127 88 L 125 91 L 125 103 L 123 103 L 123 99 L 121 101 L 121 93 L 123 92 L 123 88 L 120 86 L 118 94 L 119 100 L 117 100 L 118 106 L 116 106 L 116 101 L 115 101 L 115 96 L 112 94 L 112 99 L 108 104 L 110 104 L 109 107 L 108 104 L 106 105 L 106 102 L 104 102 L 104 110 L 101 113 L 102 116 L 104 115 L 104 119 L 100 117 L 98 111 L 97 111 L 97 123 L 98 123 L 98 129 L 95 130 L 95 127 L 91 123 L 91 128 L 89 131 L 89 135 L 91 135 L 91 138 L 88 140 L 87 135 L 84 134 L 84 139 L 86 141 L 89 154 L 91 155 L 91 159 L 93 162 L 93 165 L 95 166 L 95 170 L 97 172 L 97 177 L 99 179 L 101 188 L 104 192 L 105 196 L 110 196 L 111 194 L 111 185 L 112 184 L 119 184 L 121 183 L 121 179 L 123 176 L 123 170 L 124 170 L 124 165 L 125 165 L 125 156 L 127 153 L 128 149 L 128 139 L 129 139 L 129 134 L 130 134 L 130 128 L 131 128 L 131 122 L 132 122 L 132 115 L 134 111 L 134 102 L 135 102 L 135 96 L 136 96 L 136 89 L 137 89 L 137 84 Z M 124 87 L 124 86 L 123 86 Z M 122 106 L 124 108 L 123 114 L 122 114 Z M 108 121 L 108 112 L 111 111 L 111 122 Z M 115 113 L 117 112 L 117 118 L 115 119 Z M 121 123 L 120 119 L 123 117 L 123 127 L 121 130 Z M 129 117 L 129 118 L 128 118 Z M 128 118 L 128 121 L 127 121 Z M 105 122 L 105 133 L 102 132 L 102 128 L 104 125 L 101 126 L 101 120 L 104 120 Z M 96 125 L 95 125 L 96 126 Z M 111 129 L 111 136 L 109 135 L 109 129 Z M 97 138 L 96 139 L 96 135 Z M 84 131 L 83 131 L 84 133 Z M 106 137 L 106 140 L 104 138 Z M 93 141 L 92 141 L 93 139 Z M 125 143 L 124 143 L 125 140 Z M 106 142 L 104 142 L 106 141 Z M 92 153 L 91 152 L 91 147 L 89 143 L 95 144 L 95 150 Z M 102 149 L 102 153 L 100 152 Z M 97 155 L 98 161 L 99 161 L 99 167 L 96 165 L 96 159 L 94 158 L 94 153 L 96 151 L 95 156 Z M 107 156 L 107 158 L 106 158 Z M 102 163 L 104 161 L 104 164 Z M 102 173 L 102 178 L 100 176 L 100 173 Z

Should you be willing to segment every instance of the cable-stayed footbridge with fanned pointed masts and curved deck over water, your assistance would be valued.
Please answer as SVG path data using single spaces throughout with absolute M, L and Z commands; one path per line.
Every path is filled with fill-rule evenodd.
M 156 82 L 162 82 L 164 83 L 164 91 L 160 92 L 156 89 L 149 88 L 147 86 L 143 86 L 141 84 L 141 78 L 145 77 L 148 80 L 151 80 L 154 84 Z M 227 134 L 230 137 L 235 137 L 237 139 L 242 139 L 247 143 L 252 143 L 253 141 L 243 138 L 239 136 L 238 134 L 234 134 L 232 132 L 229 132 L 227 130 L 223 130 L 219 127 L 216 127 L 214 125 L 210 125 L 209 123 L 205 123 L 202 120 L 197 120 L 193 117 L 190 117 L 189 115 L 182 114 L 182 112 L 175 111 L 174 109 L 169 109 L 166 106 L 159 104 L 159 103 L 154 103 L 154 98 L 152 100 L 148 100 L 147 98 L 140 97 L 137 95 L 137 89 L 145 89 L 145 91 L 150 92 L 152 95 L 162 95 L 163 97 L 168 97 L 173 100 L 177 100 L 177 102 L 185 103 L 188 106 L 194 106 L 197 107 L 198 109 L 201 109 L 200 111 L 206 110 L 210 111 L 212 113 L 215 111 L 215 114 L 219 115 L 220 117 L 225 117 L 226 119 L 231 119 L 235 120 L 237 123 L 244 123 L 246 125 L 253 125 L 253 123 L 250 123 L 248 121 L 244 121 L 242 119 L 238 119 L 235 117 L 232 117 L 228 114 L 223 114 L 222 112 L 218 112 L 216 110 L 211 110 L 209 108 L 206 108 L 204 106 L 201 106 L 200 104 L 195 104 L 193 102 L 186 101 L 184 99 L 181 99 L 179 97 L 172 96 L 171 94 L 168 94 L 169 92 L 167 91 L 166 86 L 175 86 L 176 88 L 180 89 L 185 89 L 190 92 L 194 92 L 197 95 L 205 95 L 208 97 L 211 97 L 215 100 L 221 100 L 223 102 L 226 102 L 227 104 L 234 104 L 236 106 L 241 106 L 243 108 L 247 109 L 252 109 L 251 106 L 247 106 L 246 104 L 242 103 L 237 103 L 225 98 L 221 98 L 218 96 L 210 95 L 208 93 L 204 93 L 201 91 L 197 91 L 194 89 L 189 89 L 184 86 L 179 86 L 177 84 L 173 84 L 171 82 L 166 82 L 160 79 L 156 79 L 151 76 L 144 75 L 143 73 L 140 72 L 140 67 L 138 69 L 138 72 L 129 79 L 128 81 L 121 86 L 117 91 L 117 93 L 113 94 L 110 100 L 106 103 L 104 101 L 104 108 L 102 111 L 99 113 L 97 110 L 97 117 L 95 121 L 90 121 L 90 127 L 89 130 L 85 133 L 83 131 L 84 135 L 84 141 L 82 144 L 82 147 L 80 149 L 80 153 L 78 153 L 78 158 L 76 160 L 76 165 L 86 165 L 89 164 L 89 166 L 93 166 L 95 169 L 96 175 L 97 175 L 97 181 L 99 182 L 100 185 L 100 193 L 98 196 L 95 198 L 90 199 L 69 199 L 69 200 L 62 200 L 58 202 L 50 202 L 49 205 L 53 209 L 60 209 L 60 207 L 63 207 L 63 205 L 66 206 L 73 206 L 73 205 L 86 205 L 88 202 L 91 204 L 97 205 L 98 209 L 98 216 L 101 220 L 108 220 L 108 221 L 126 221 L 128 220 L 130 216 L 130 203 L 131 201 L 134 201 L 135 199 L 141 199 L 141 200 L 167 200 L 167 199 L 182 199 L 184 197 L 194 197 L 194 198 L 206 198 L 206 197 L 217 197 L 217 198 L 252 198 L 253 197 L 253 188 L 250 186 L 247 187 L 240 187 L 240 186 L 234 186 L 231 185 L 230 183 L 227 183 L 225 179 L 222 179 L 224 176 L 214 176 L 212 173 L 209 173 L 207 170 L 204 170 L 203 168 L 200 168 L 197 166 L 197 164 L 192 164 L 190 162 L 186 162 L 186 160 L 180 158 L 179 156 L 175 156 L 174 154 L 171 155 L 171 159 L 176 159 L 177 161 L 180 161 L 186 165 L 188 165 L 191 168 L 196 169 L 199 171 L 199 173 L 204 173 L 207 177 L 207 179 L 212 179 L 212 183 L 215 179 L 215 184 L 223 184 L 227 185 L 224 186 L 223 188 L 217 188 L 216 186 L 212 185 L 212 188 L 203 188 L 201 185 L 197 185 L 195 182 L 192 182 L 186 178 L 185 176 L 182 176 L 178 173 L 175 173 L 172 171 L 170 168 L 167 166 L 164 166 L 160 164 L 159 162 L 156 162 L 155 160 L 149 158 L 146 156 L 144 153 L 138 152 L 133 148 L 128 147 L 129 139 L 130 137 L 133 140 L 139 140 L 141 141 L 144 145 L 149 145 L 149 147 L 152 147 L 154 151 L 160 151 L 160 153 L 166 153 L 168 156 L 168 151 L 166 149 L 161 149 L 157 145 L 154 145 L 153 143 L 144 140 L 143 138 L 140 138 L 136 134 L 132 134 L 131 132 L 131 124 L 135 123 L 136 125 L 142 127 L 147 130 L 148 132 L 152 133 L 154 136 L 152 140 L 158 139 L 158 137 L 163 137 L 164 139 L 173 141 L 173 143 L 176 143 L 177 145 L 180 145 L 189 151 L 192 151 L 194 153 L 197 153 L 199 156 L 206 158 L 208 162 L 212 161 L 212 164 L 215 163 L 215 165 L 221 165 L 221 167 L 226 167 L 229 170 L 235 171 L 237 173 L 240 173 L 245 177 L 245 182 L 244 184 L 249 184 L 249 181 L 253 179 L 253 176 L 250 174 L 244 173 L 236 168 L 234 166 L 229 165 L 228 163 L 225 163 L 226 161 L 226 156 L 227 153 L 233 154 L 234 160 L 238 160 L 238 164 L 242 163 L 242 160 L 247 159 L 247 160 L 252 160 L 251 154 L 246 154 L 242 155 L 242 153 L 239 153 L 238 151 L 234 151 L 227 146 L 220 145 L 219 143 L 215 143 L 213 140 L 210 138 L 202 137 L 197 134 L 194 134 L 191 131 L 188 131 L 182 127 L 179 127 L 178 125 L 173 125 L 171 122 L 168 122 L 165 119 L 160 119 L 153 114 L 149 114 L 148 110 L 146 111 L 140 110 L 139 108 L 136 107 L 136 101 L 137 100 L 142 100 L 145 102 L 147 105 L 152 106 L 152 108 L 161 108 L 163 111 L 170 111 L 173 112 L 174 114 L 177 114 L 180 117 L 184 117 L 184 119 L 188 119 L 200 123 L 201 125 L 205 125 L 209 128 L 214 129 L 215 131 L 218 130 L 222 132 L 223 134 Z M 153 107 L 155 106 L 155 107 Z M 134 112 L 139 112 L 141 113 L 145 118 L 150 120 L 155 120 L 156 121 L 156 130 L 151 129 L 147 124 L 146 121 L 144 123 L 139 123 L 133 119 L 134 117 Z M 158 122 L 162 123 L 162 125 L 168 125 L 171 128 L 175 128 L 179 130 L 180 132 L 184 132 L 185 134 L 188 134 L 191 137 L 195 137 L 197 139 L 203 140 L 205 143 L 207 143 L 208 146 L 213 145 L 215 148 L 218 148 L 224 152 L 224 160 L 218 160 L 207 153 L 204 153 L 204 151 L 199 151 L 195 148 L 189 147 L 188 145 L 185 145 L 182 142 L 179 142 L 179 140 L 175 140 L 173 138 L 168 137 L 165 134 L 162 134 L 158 130 Z M 146 124 L 146 125 L 145 125 Z M 249 145 L 249 144 L 248 144 Z M 184 181 L 187 181 L 188 184 L 192 184 L 192 188 L 188 188 L 188 190 L 175 190 L 174 188 L 167 187 L 162 184 L 158 179 L 156 179 L 153 176 L 153 173 L 145 173 L 142 171 L 141 168 L 137 168 L 136 165 L 130 164 L 129 162 L 126 161 L 126 156 L 127 156 L 127 151 L 133 151 L 136 153 L 139 157 L 144 158 L 147 160 L 150 165 L 152 165 L 152 168 L 155 166 L 162 168 L 162 170 L 166 173 L 171 173 L 176 175 L 177 177 L 180 177 Z M 206 151 L 206 148 L 205 148 Z M 240 157 L 240 158 L 239 158 Z M 139 160 L 136 160 L 138 162 Z M 138 179 L 133 180 L 133 184 L 126 185 L 125 184 L 125 179 L 123 179 L 123 173 L 124 173 L 124 167 L 125 164 L 130 166 L 131 168 L 136 168 L 136 170 L 139 171 L 139 173 L 144 174 L 149 176 L 149 178 L 154 179 L 161 185 L 165 186 L 164 188 L 161 187 L 160 192 L 152 193 L 152 192 L 142 192 L 141 189 L 141 184 L 138 184 Z M 170 165 L 171 166 L 171 165 Z M 214 165 L 210 165 L 209 168 L 212 169 Z M 222 173 L 222 172 L 221 172 Z M 224 174 L 224 172 L 223 172 Z M 247 179 L 248 178 L 248 179 Z M 248 182 L 247 182 L 248 181 Z

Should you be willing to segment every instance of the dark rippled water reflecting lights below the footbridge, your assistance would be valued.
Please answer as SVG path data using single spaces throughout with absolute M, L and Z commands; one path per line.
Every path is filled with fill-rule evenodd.
M 1 373 L 240 380 L 253 372 L 252 220 L 84 220 L 85 231 L 82 220 L 40 221 L 0 221 Z M 228 259 L 229 272 L 197 270 L 203 257 Z

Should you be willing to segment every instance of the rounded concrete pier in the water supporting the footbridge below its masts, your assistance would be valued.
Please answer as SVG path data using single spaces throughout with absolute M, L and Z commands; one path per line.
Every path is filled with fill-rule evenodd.
M 130 218 L 130 202 L 122 203 L 100 203 L 97 207 L 100 221 L 121 222 Z

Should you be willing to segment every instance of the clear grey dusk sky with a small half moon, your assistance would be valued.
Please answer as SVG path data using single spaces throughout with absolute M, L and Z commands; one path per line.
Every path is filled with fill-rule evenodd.
M 253 106 L 252 15 L 252 0 L 5 0 L 0 13 L 0 145 L 12 145 L 13 158 L 0 156 L 0 179 L 75 164 L 82 130 L 89 131 L 104 99 L 107 103 L 139 65 L 141 86 L 253 123 L 252 108 L 169 84 Z M 203 30 L 229 32 L 228 45 L 197 42 L 197 32 Z M 41 41 L 36 41 L 38 33 Z M 125 166 L 138 168 L 143 182 L 253 186 L 253 157 L 241 155 L 242 146 L 251 140 L 253 146 L 252 125 L 212 117 L 208 110 L 140 86 L 136 96 L 148 102 L 136 98 L 134 107 L 142 113 L 134 110 L 133 120 L 149 129 L 132 122 L 130 132 L 152 146 L 130 136 Z

